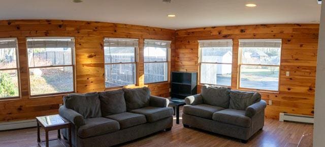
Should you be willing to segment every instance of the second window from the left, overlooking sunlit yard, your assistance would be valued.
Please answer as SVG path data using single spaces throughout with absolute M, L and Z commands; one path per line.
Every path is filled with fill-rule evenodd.
M 27 38 L 31 96 L 74 91 L 74 38 Z

